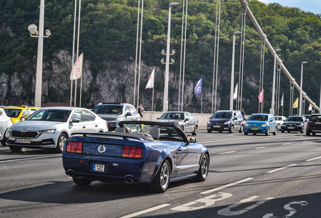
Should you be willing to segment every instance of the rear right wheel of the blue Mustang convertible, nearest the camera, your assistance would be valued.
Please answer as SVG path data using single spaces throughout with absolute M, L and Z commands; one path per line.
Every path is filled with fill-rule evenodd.
M 165 160 L 161 167 L 158 169 L 158 172 L 154 180 L 149 184 L 149 189 L 152 192 L 163 193 L 166 191 L 170 184 L 171 178 L 171 166 L 168 160 Z

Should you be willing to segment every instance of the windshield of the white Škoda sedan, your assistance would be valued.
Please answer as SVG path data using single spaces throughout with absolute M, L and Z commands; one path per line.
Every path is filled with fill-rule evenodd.
M 34 121 L 56 121 L 56 122 L 67 122 L 71 111 L 66 110 L 38 110 L 33 113 L 29 120 Z

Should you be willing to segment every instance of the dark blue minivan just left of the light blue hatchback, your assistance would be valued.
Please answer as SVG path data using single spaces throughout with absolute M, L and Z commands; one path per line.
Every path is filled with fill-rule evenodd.
M 234 130 L 238 130 L 240 133 L 244 130 L 244 119 L 239 111 L 217 111 L 207 123 L 208 133 L 212 131 L 233 133 Z

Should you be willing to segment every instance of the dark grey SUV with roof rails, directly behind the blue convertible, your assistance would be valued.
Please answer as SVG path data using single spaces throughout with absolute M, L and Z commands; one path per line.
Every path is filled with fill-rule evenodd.
M 128 103 L 99 103 L 92 112 L 108 122 L 109 131 L 115 131 L 120 121 L 142 120 L 136 108 Z

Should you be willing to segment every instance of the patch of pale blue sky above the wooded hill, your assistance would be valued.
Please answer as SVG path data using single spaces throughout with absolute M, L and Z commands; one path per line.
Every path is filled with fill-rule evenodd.
M 283 6 L 295 7 L 302 9 L 305 12 L 312 12 L 314 14 L 321 14 L 321 1 L 320 0 L 259 0 L 265 4 L 279 3 Z

